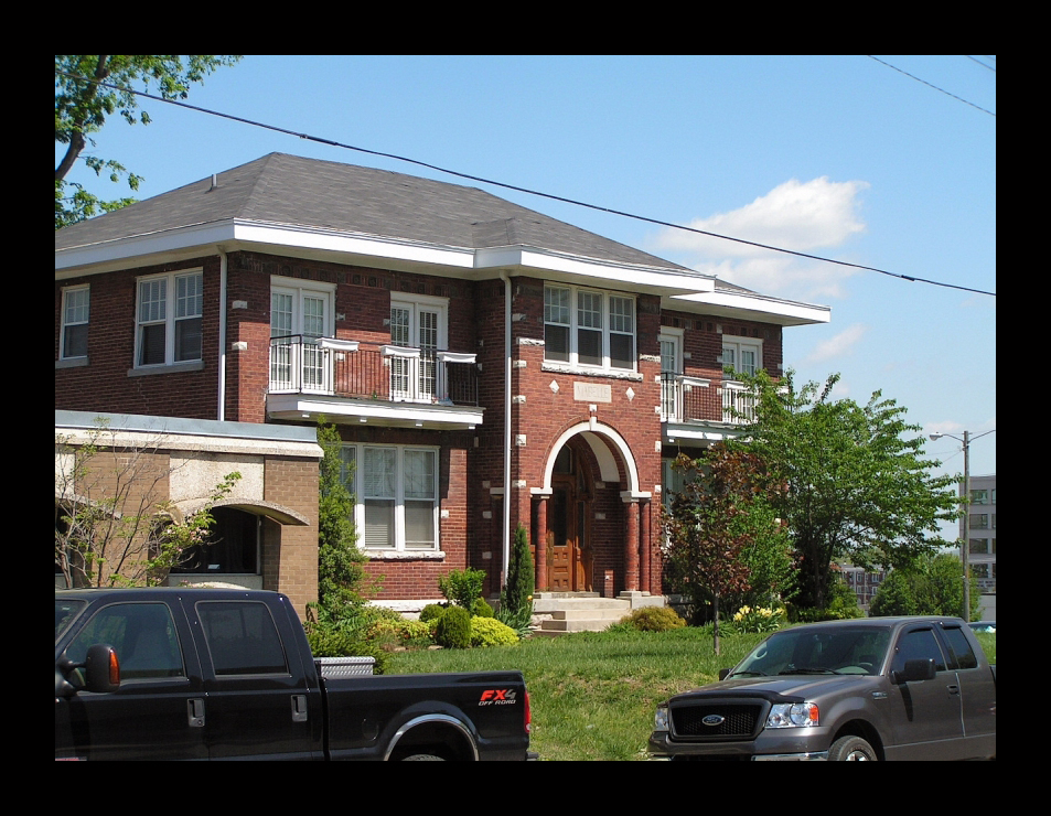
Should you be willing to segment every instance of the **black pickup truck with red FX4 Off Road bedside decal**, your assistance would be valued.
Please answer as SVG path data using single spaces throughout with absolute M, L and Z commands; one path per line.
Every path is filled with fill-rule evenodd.
M 525 760 L 519 672 L 332 677 L 288 598 L 55 591 L 56 760 Z

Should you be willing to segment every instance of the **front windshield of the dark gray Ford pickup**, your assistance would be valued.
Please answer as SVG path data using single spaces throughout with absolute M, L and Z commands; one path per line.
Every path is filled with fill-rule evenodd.
M 889 643 L 889 629 L 790 629 L 760 643 L 730 677 L 875 675 Z

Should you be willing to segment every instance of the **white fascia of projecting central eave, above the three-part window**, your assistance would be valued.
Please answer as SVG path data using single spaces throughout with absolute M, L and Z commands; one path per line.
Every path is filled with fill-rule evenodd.
M 485 247 L 475 250 L 474 257 L 476 269 L 510 268 L 526 273 L 537 270 L 543 272 L 539 277 L 548 278 L 554 272 L 570 280 L 593 280 L 596 286 L 607 288 L 620 283 L 624 289 L 665 296 L 715 291 L 715 278 L 711 276 L 683 275 L 674 269 L 616 264 L 536 247 Z

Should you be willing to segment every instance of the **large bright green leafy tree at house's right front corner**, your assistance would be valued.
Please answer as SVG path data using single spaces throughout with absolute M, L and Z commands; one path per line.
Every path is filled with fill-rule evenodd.
M 755 389 L 754 421 L 730 444 L 758 455 L 785 485 L 775 496 L 798 558 L 801 606 L 827 605 L 834 560 L 864 568 L 898 567 L 943 544 L 939 523 L 956 518 L 955 481 L 933 476 L 920 427 L 876 391 L 860 406 L 830 399 L 839 375 L 796 390 L 791 372 Z

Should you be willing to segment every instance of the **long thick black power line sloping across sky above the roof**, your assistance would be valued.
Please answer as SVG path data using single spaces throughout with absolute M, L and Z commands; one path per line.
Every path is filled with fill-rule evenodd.
M 875 58 L 875 57 L 873 57 L 873 58 Z M 600 205 L 598 205 L 598 204 L 589 204 L 589 203 L 587 203 L 587 202 L 577 201 L 577 200 L 575 200 L 575 198 L 567 198 L 567 197 L 561 196 L 561 195 L 554 195 L 554 194 L 551 194 L 551 193 L 541 193 L 541 192 L 539 192 L 539 191 L 537 191 L 537 190 L 529 190 L 528 187 L 522 187 L 522 186 L 516 186 L 516 185 L 514 185 L 514 184 L 507 184 L 507 183 L 505 183 L 505 182 L 493 181 L 492 179 L 484 179 L 484 178 L 482 178 L 482 176 L 471 175 L 471 174 L 469 174 L 469 173 L 461 173 L 461 172 L 455 171 L 455 170 L 448 170 L 447 168 L 442 168 L 442 167 L 439 167 L 439 165 L 437 165 L 437 164 L 430 164 L 430 163 L 428 163 L 428 162 L 420 161 L 419 159 L 410 159 L 410 158 L 408 158 L 408 157 L 398 155 L 398 154 L 396 154 L 396 153 L 386 153 L 386 152 L 383 152 L 383 151 L 380 151 L 380 150 L 371 150 L 371 149 L 368 149 L 368 148 L 361 148 L 361 147 L 356 147 L 356 146 L 354 146 L 354 144 L 345 144 L 345 143 L 343 143 L 343 142 L 334 141 L 333 139 L 324 139 L 324 138 L 322 138 L 322 137 L 311 136 L 311 135 L 309 135 L 309 133 L 301 133 L 301 132 L 299 132 L 299 131 L 289 130 L 288 128 L 281 128 L 281 127 L 278 127 L 278 126 L 276 126 L 276 125 L 267 125 L 266 122 L 259 122 L 259 121 L 255 121 L 255 120 L 253 120 L 253 119 L 246 119 L 246 118 L 240 117 L 240 116 L 234 116 L 233 114 L 224 114 L 224 112 L 218 111 L 218 110 L 210 110 L 208 108 L 202 108 L 202 107 L 200 107 L 200 106 L 197 106 L 197 105 L 190 105 L 189 103 L 179 101 L 179 100 L 176 100 L 176 99 L 165 99 L 164 97 L 157 96 L 157 95 L 154 95 L 154 94 L 149 94 L 149 93 L 147 93 L 147 92 L 144 92 L 144 90 L 133 90 L 133 89 L 131 89 L 131 88 L 125 88 L 125 87 L 121 87 L 121 86 L 119 86 L 119 85 L 112 85 L 112 84 L 110 84 L 110 83 L 99 82 L 99 80 L 97 80 L 97 79 L 93 79 L 93 78 L 85 77 L 85 76 L 79 76 L 79 75 L 77 75 L 77 74 L 68 74 L 68 73 L 63 72 L 63 71 L 55 71 L 55 73 L 58 74 L 58 75 L 62 75 L 62 76 L 69 77 L 69 78 L 72 78 L 72 79 L 79 79 L 79 80 L 83 80 L 83 82 L 94 83 L 94 84 L 96 84 L 96 85 L 100 85 L 101 87 L 110 88 L 110 89 L 112 89 L 112 90 L 119 90 L 119 92 L 122 92 L 122 93 L 135 94 L 136 96 L 143 96 L 143 97 L 146 97 L 146 98 L 148 98 L 148 99 L 153 99 L 153 100 L 160 101 L 160 103 L 167 103 L 168 105 L 176 105 L 176 106 L 179 106 L 179 107 L 181 107 L 181 108 L 186 108 L 186 109 L 189 109 L 189 110 L 196 110 L 196 111 L 199 111 L 199 112 L 201 112 L 201 114 L 207 114 L 207 115 L 210 115 L 210 116 L 216 116 L 216 117 L 219 117 L 219 118 L 222 118 L 222 119 L 229 119 L 229 120 L 232 120 L 232 121 L 238 121 L 238 122 L 242 122 L 242 124 L 244 124 L 244 125 L 250 125 L 250 126 L 253 126 L 253 127 L 264 128 L 265 130 L 274 130 L 274 131 L 279 132 L 279 133 L 286 133 L 286 135 L 288 135 L 288 136 L 294 136 L 294 137 L 298 137 L 298 138 L 300 138 L 300 139 L 305 139 L 305 140 L 308 140 L 308 141 L 318 142 L 319 144 L 329 144 L 329 146 L 331 146 L 331 147 L 343 148 L 343 149 L 345 149 L 345 150 L 354 150 L 354 151 L 357 151 L 357 152 L 360 152 L 360 153 L 366 153 L 366 154 L 368 154 L 368 155 L 378 155 L 378 157 L 383 157 L 383 158 L 386 158 L 386 159 L 394 159 L 394 160 L 396 160 L 396 161 L 404 161 L 404 162 L 408 162 L 409 164 L 415 164 L 415 165 L 417 165 L 417 167 L 427 168 L 427 169 L 429 169 L 429 170 L 435 170 L 435 171 L 437 171 L 437 172 L 439 172 L 439 173 L 447 173 L 447 174 L 449 174 L 449 175 L 454 175 L 454 176 L 457 176 L 457 178 L 459 178 L 459 179 L 466 179 L 466 180 L 469 180 L 469 181 L 474 181 L 474 182 L 479 182 L 479 183 L 482 183 L 482 184 L 492 184 L 492 185 L 494 185 L 494 186 L 503 187 L 503 189 L 505 189 L 505 190 L 514 190 L 514 191 L 519 192 L 519 193 L 526 193 L 526 194 L 528 194 L 528 195 L 536 195 L 536 196 L 540 196 L 540 197 L 543 197 L 543 198 L 549 198 L 549 200 L 551 200 L 551 201 L 562 202 L 562 203 L 565 203 L 565 204 L 573 204 L 575 206 L 587 207 L 588 210 L 596 210 L 596 211 L 602 212 L 602 213 L 610 213 L 611 215 L 620 215 L 620 216 L 623 216 L 623 217 L 625 217 L 625 218 L 633 218 L 633 219 L 635 219 L 635 221 L 645 222 L 645 223 L 647 223 L 647 224 L 655 224 L 655 225 L 657 225 L 657 226 L 664 226 L 664 227 L 668 227 L 668 228 L 671 228 L 671 229 L 682 229 L 682 230 L 687 232 L 687 233 L 695 233 L 695 234 L 697 234 L 697 235 L 706 235 L 706 236 L 708 236 L 708 237 L 710 237 L 710 238 L 719 238 L 719 239 L 721 239 L 721 240 L 732 240 L 732 241 L 734 241 L 734 243 L 737 243 L 737 244 L 744 244 L 744 245 L 748 245 L 748 246 L 758 247 L 758 248 L 760 248 L 760 249 L 769 249 L 769 250 L 774 251 L 774 253 L 783 253 L 783 254 L 785 254 L 785 255 L 794 255 L 794 256 L 796 256 L 796 257 L 798 257 L 798 258 L 808 258 L 809 260 L 817 260 L 817 261 L 822 261 L 822 262 L 824 262 L 824 264 L 836 264 L 837 266 L 850 267 L 850 268 L 852 268 L 852 269 L 861 269 L 861 270 L 870 271 L 870 272 L 879 272 L 880 275 L 886 275 L 886 276 L 891 277 L 891 278 L 898 278 L 898 279 L 900 279 L 900 280 L 907 280 L 907 281 L 910 281 L 910 282 L 930 283 L 931 286 L 944 287 L 944 288 L 946 288 L 946 289 L 957 289 L 957 290 L 964 291 L 964 292 L 974 292 L 975 294 L 987 294 L 987 296 L 993 297 L 993 298 L 996 297 L 996 292 L 988 292 L 988 291 L 985 291 L 985 290 L 982 290 L 982 289 L 972 289 L 972 288 L 969 288 L 969 287 L 957 286 L 957 284 L 955 284 L 955 283 L 943 283 L 943 282 L 941 282 L 941 281 L 930 280 L 930 279 L 927 279 L 927 278 L 919 278 L 919 277 L 910 276 L 910 275 L 899 275 L 898 272 L 890 272 L 890 271 L 887 271 L 886 269 L 879 269 L 879 268 L 877 268 L 877 267 L 869 267 L 869 266 L 865 266 L 865 265 L 862 265 L 862 264 L 850 264 L 850 262 L 845 261 L 845 260 L 836 260 L 836 259 L 834 259 L 834 258 L 825 258 L 825 257 L 822 257 L 822 256 L 819 256 L 819 255 L 811 255 L 811 254 L 808 254 L 808 253 L 800 253 L 800 251 L 796 251 L 796 250 L 794 250 L 794 249 L 784 249 L 783 247 L 775 247 L 775 246 L 771 246 L 771 245 L 769 245 L 769 244 L 760 244 L 760 243 L 754 241 L 754 240 L 746 240 L 744 238 L 734 238 L 734 237 L 729 236 L 729 235 L 719 235 L 718 233 L 709 233 L 709 232 L 704 230 L 704 229 L 697 229 L 696 227 L 687 227 L 687 226 L 683 226 L 682 224 L 673 224 L 672 222 L 661 221 L 661 219 L 658 219 L 658 218 L 651 218 L 651 217 L 645 216 L 645 215 L 635 215 L 635 214 L 633 214 L 633 213 L 628 213 L 628 212 L 624 212 L 624 211 L 622 211 L 622 210 L 613 210 L 612 207 L 603 207 L 603 206 L 600 206 Z

